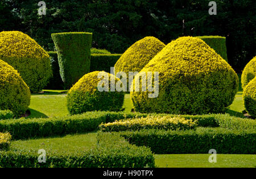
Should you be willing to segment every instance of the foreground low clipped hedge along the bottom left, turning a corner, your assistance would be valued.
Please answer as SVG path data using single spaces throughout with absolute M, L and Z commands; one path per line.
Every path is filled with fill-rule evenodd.
M 38 163 L 36 151 L 0 151 L 0 166 L 11 167 L 155 167 L 150 149 L 129 144 L 116 134 L 100 133 L 98 144 L 91 151 L 55 153 L 47 151 L 46 163 Z

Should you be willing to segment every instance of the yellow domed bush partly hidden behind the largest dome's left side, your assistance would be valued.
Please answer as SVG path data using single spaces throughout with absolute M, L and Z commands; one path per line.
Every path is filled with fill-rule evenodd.
M 149 36 L 131 45 L 115 64 L 115 73 L 139 72 L 163 48 L 164 43 Z

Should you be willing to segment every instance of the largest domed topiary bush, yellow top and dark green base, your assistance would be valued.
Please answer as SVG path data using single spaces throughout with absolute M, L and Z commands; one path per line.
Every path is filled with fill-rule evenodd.
M 232 67 L 199 38 L 172 41 L 141 72 L 159 72 L 156 98 L 149 98 L 149 91 L 131 92 L 134 108 L 141 113 L 221 113 L 238 90 Z

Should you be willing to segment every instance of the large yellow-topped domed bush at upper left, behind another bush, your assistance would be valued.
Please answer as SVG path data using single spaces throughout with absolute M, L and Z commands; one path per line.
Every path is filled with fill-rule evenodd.
M 0 33 L 0 59 L 18 70 L 31 91 L 42 90 L 52 76 L 48 53 L 19 31 Z

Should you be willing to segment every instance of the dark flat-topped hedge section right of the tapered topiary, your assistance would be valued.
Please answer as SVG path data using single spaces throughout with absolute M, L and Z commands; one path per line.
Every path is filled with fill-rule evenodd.
M 90 72 L 105 71 L 110 73 L 110 67 L 114 67 L 122 54 L 92 54 L 90 56 Z

